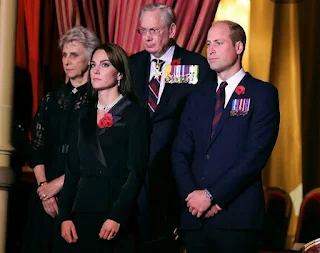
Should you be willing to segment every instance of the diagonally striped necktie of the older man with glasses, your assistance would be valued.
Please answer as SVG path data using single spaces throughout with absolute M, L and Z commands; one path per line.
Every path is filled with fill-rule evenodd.
M 157 108 L 160 81 L 161 81 L 161 68 L 165 63 L 160 59 L 153 59 L 152 61 L 156 62 L 156 69 L 148 85 L 148 108 L 151 116 L 153 115 L 153 113 L 156 111 L 156 108 Z

